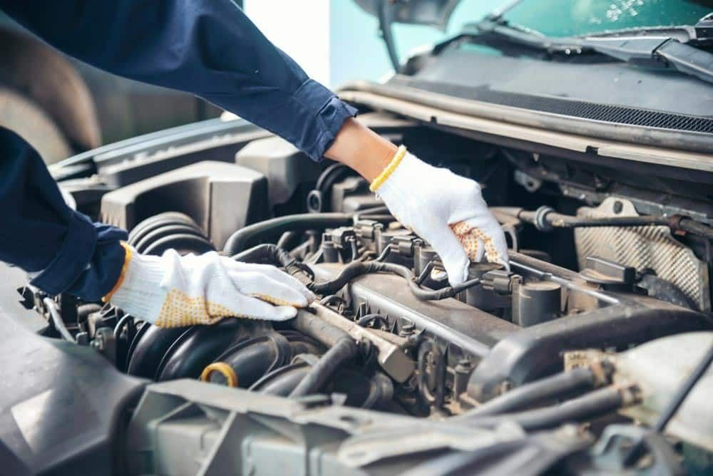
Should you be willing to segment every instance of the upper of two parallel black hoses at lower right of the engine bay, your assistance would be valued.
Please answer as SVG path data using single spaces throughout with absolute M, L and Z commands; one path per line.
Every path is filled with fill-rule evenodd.
M 462 418 L 471 416 L 499 415 L 501 413 L 523 410 L 536 403 L 551 398 L 563 397 L 573 392 L 591 390 L 597 385 L 597 377 L 591 368 L 573 368 L 571 371 L 558 373 L 493 398 L 478 408 L 469 411 Z

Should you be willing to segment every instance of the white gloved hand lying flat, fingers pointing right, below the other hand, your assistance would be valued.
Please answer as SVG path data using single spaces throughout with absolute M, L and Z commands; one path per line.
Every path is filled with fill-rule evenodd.
M 105 301 L 160 327 L 215 324 L 228 316 L 284 321 L 314 299 L 297 279 L 266 264 L 215 252 L 181 257 L 138 254 L 122 243 L 122 274 Z

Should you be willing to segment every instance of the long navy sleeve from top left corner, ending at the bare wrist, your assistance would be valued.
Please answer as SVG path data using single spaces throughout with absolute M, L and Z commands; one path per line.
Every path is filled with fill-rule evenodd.
M 0 0 L 0 8 L 81 61 L 194 93 L 314 160 L 356 114 L 270 43 L 232 0 Z

